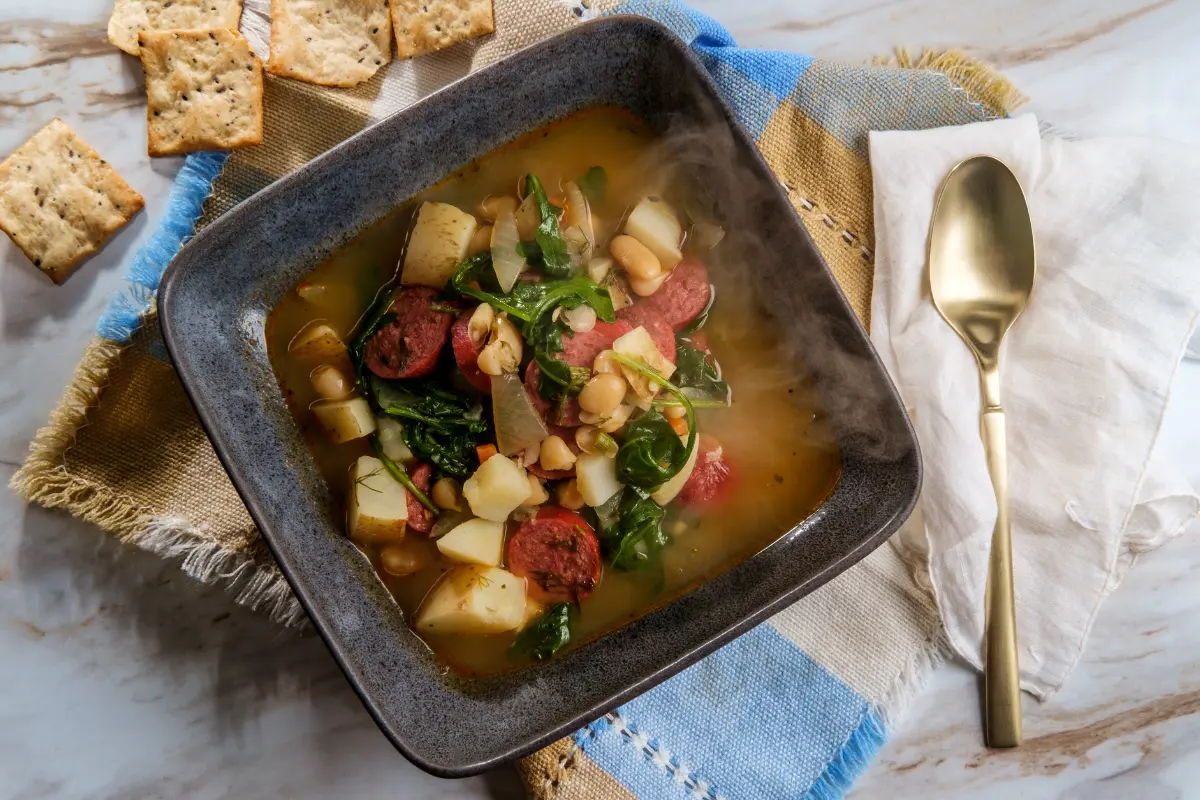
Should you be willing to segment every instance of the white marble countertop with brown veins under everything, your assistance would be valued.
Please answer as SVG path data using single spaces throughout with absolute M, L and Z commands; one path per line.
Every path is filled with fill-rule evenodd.
M 7 485 L 152 230 L 179 161 L 145 155 L 134 60 L 108 0 L 0 0 L 0 152 L 52 116 L 146 198 L 64 287 L 0 239 L 0 481 Z M 1200 145 L 1189 0 L 694 0 L 746 46 L 863 61 L 961 47 L 1068 133 Z M 1200 363 L 1165 422 L 1200 485 Z M 1192 531 L 1196 533 L 1195 530 Z M 1200 796 L 1200 539 L 1145 557 L 1067 688 L 988 752 L 970 672 L 940 669 L 853 798 Z M 0 488 L 0 798 L 518 798 L 511 770 L 439 781 L 400 757 L 314 638 L 295 638 L 143 552 Z

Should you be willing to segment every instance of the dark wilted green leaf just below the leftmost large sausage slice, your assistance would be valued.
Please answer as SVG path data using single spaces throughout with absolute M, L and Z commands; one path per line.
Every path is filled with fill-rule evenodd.
M 491 423 L 469 399 L 433 383 L 370 378 L 376 403 L 404 420 L 403 439 L 418 458 L 456 477 L 475 471 L 475 447 L 491 438 Z

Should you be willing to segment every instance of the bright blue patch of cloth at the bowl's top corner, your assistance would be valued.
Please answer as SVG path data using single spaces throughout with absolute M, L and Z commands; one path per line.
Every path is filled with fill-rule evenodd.
M 617 13 L 636 13 L 670 28 L 704 65 L 738 120 L 755 139 L 796 89 L 812 59 L 794 53 L 738 47 L 712 17 L 665 0 L 629 0 Z

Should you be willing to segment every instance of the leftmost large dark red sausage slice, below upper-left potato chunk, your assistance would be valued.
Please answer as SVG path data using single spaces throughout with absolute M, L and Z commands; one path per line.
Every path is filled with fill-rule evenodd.
M 401 290 L 390 311 L 396 319 L 379 329 L 366 347 L 371 372 L 380 378 L 420 378 L 433 372 L 450 337 L 455 312 L 438 311 L 438 293 L 427 287 Z

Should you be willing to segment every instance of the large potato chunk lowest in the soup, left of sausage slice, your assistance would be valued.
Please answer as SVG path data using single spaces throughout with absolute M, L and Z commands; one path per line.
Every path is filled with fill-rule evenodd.
M 416 613 L 424 633 L 503 633 L 524 621 L 524 578 L 494 566 L 446 572 Z

